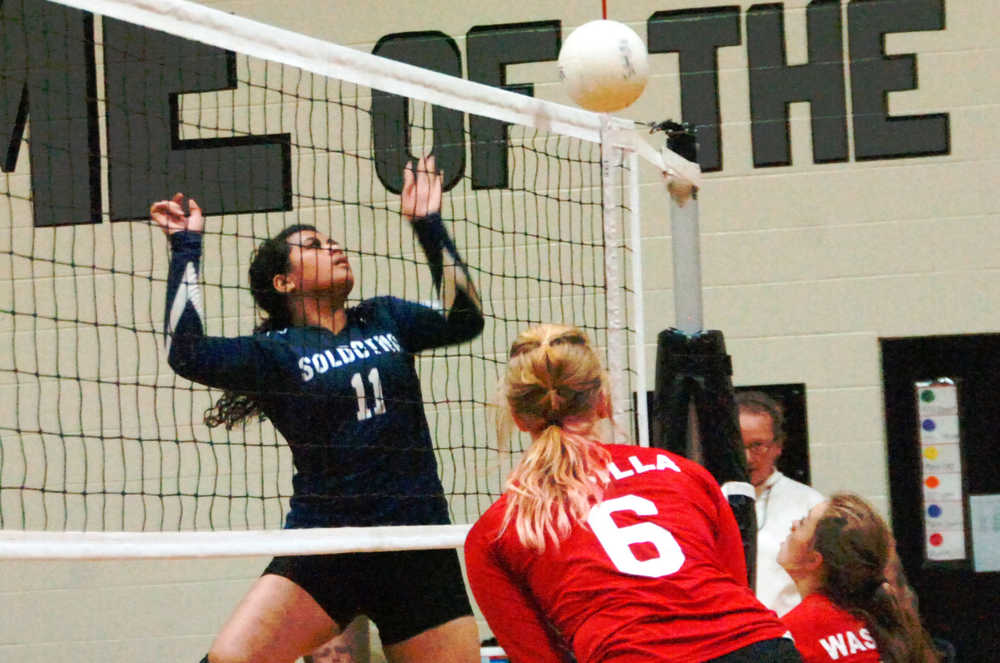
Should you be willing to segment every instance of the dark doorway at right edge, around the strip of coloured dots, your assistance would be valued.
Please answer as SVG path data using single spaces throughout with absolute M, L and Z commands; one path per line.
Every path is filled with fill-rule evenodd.
M 881 339 L 893 529 L 903 566 L 935 637 L 954 644 L 963 663 L 992 663 L 1000 646 L 1000 573 L 976 573 L 967 559 L 929 562 L 925 555 L 919 421 L 914 383 L 951 378 L 958 385 L 963 488 L 1000 493 L 1000 334 Z

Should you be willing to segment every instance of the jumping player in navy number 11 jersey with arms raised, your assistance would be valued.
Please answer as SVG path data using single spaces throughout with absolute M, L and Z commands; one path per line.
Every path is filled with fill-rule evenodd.
M 227 427 L 270 419 L 292 450 L 286 527 L 448 522 L 414 355 L 478 336 L 478 295 L 441 222 L 433 157 L 403 176 L 401 211 L 430 264 L 441 310 L 394 297 L 346 305 L 354 285 L 340 245 L 292 226 L 258 247 L 250 289 L 265 314 L 251 336 L 204 333 L 198 264 L 204 219 L 177 194 L 154 203 L 173 249 L 168 360 L 226 394 L 206 413 Z M 358 614 L 389 661 L 478 662 L 478 635 L 454 550 L 277 557 L 212 644 L 211 663 L 291 663 Z

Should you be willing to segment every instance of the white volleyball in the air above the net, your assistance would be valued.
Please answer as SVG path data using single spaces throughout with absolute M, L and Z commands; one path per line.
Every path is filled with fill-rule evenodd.
M 570 99 L 587 110 L 626 108 L 642 94 L 648 77 L 646 45 L 618 21 L 584 23 L 559 51 L 559 78 Z

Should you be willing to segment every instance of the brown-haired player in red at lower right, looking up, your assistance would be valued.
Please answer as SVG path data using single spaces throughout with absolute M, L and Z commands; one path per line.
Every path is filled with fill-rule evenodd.
M 938 660 L 912 602 L 886 580 L 892 535 L 857 495 L 838 493 L 792 525 L 778 563 L 802 602 L 782 617 L 806 663 Z

